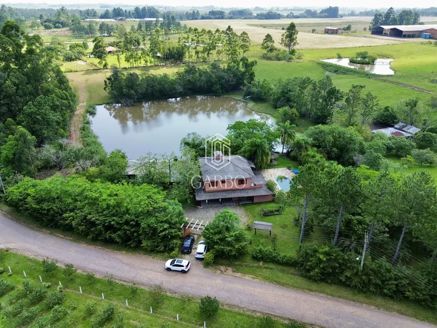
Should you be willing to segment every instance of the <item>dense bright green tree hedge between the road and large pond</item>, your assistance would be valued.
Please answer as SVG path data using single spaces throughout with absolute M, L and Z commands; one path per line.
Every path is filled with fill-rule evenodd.
M 77 176 L 26 178 L 9 188 L 7 202 L 44 226 L 151 251 L 174 250 L 185 222 L 181 205 L 166 201 L 156 187 L 89 182 Z

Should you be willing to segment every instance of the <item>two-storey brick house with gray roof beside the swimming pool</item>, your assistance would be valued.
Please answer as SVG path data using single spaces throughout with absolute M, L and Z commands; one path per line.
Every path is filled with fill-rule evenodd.
M 199 157 L 202 183 L 195 188 L 201 206 L 230 205 L 272 201 L 273 193 L 252 161 L 239 156 L 216 152 Z

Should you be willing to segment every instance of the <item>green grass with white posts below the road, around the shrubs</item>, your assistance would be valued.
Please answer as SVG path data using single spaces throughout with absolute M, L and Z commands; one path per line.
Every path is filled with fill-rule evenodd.
M 15 285 L 13 290 L 9 290 L 5 295 L 0 294 L 0 303 L 3 304 L 0 315 L 8 312 L 9 309 L 16 309 L 14 316 L 8 319 L 7 325 L 2 328 L 15 328 L 24 324 L 19 324 L 19 320 L 29 317 L 25 326 L 37 327 L 36 321 L 42 317 L 48 317 L 49 309 L 46 306 L 46 298 L 42 301 L 31 302 L 29 298 L 19 296 L 20 285 L 24 280 L 33 285 L 39 285 L 39 275 L 44 283 L 50 283 L 48 291 L 53 291 L 58 286 L 59 281 L 64 288 L 65 300 L 62 304 L 67 309 L 64 317 L 56 320 L 63 324 L 63 327 L 91 327 L 91 321 L 107 305 L 115 305 L 115 315 L 113 319 L 105 322 L 105 326 L 110 326 L 118 322 L 117 316 L 123 317 L 123 327 L 130 328 L 142 324 L 147 327 L 200 327 L 203 326 L 204 319 L 199 311 L 197 299 L 182 296 L 175 297 L 163 293 L 154 293 L 151 290 L 142 289 L 135 285 L 119 284 L 111 277 L 105 279 L 89 279 L 85 274 L 75 273 L 71 277 L 66 277 L 64 270 L 57 267 L 55 271 L 44 273 L 42 262 L 28 258 L 23 255 L 0 251 L 0 267 L 11 267 L 13 274 L 8 276 L 7 272 L 0 275 L 1 279 Z M 27 279 L 23 271 L 26 272 Z M 134 286 L 134 287 L 133 287 Z M 83 294 L 79 293 L 79 287 Z M 102 293 L 104 300 L 102 300 Z M 126 306 L 128 300 L 128 307 Z M 21 302 L 21 304 L 20 304 Z M 87 303 L 95 304 L 95 312 L 86 314 Z M 150 307 L 153 314 L 150 314 Z M 20 310 L 21 308 L 21 310 Z M 30 315 L 35 311 L 33 315 Z M 176 313 L 179 314 L 179 321 L 176 321 Z M 220 308 L 219 313 L 214 319 L 207 319 L 208 327 L 234 328 L 235 326 L 255 326 L 260 319 L 254 315 L 243 312 Z M 164 325 L 167 323 L 168 325 Z M 117 326 L 118 327 L 118 326 Z M 286 327 L 283 321 L 277 321 L 277 327 Z

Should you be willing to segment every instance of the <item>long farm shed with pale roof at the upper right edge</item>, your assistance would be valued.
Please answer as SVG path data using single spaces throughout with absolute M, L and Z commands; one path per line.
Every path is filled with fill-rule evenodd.
M 372 28 L 371 34 L 400 38 L 423 37 L 437 39 L 436 25 L 380 25 Z

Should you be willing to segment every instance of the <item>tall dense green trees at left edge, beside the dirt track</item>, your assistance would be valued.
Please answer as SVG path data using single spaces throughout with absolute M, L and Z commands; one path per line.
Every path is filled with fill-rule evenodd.
M 0 40 L 4 53 L 0 58 L 0 122 L 5 133 L 1 155 L 8 152 L 19 165 L 17 147 L 32 151 L 33 146 L 67 136 L 76 96 L 39 35 L 29 36 L 8 21 Z

